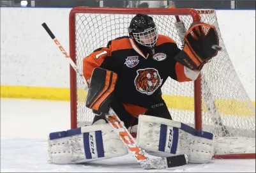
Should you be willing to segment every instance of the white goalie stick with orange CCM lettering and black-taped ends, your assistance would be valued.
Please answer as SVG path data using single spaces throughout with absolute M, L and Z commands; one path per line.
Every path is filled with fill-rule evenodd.
M 56 43 L 57 47 L 59 47 L 59 50 L 61 50 L 63 55 L 68 59 L 73 69 L 79 74 L 82 82 L 84 84 L 87 84 L 84 75 L 82 75 L 82 72 L 79 70 L 79 68 L 77 68 L 77 65 L 73 62 L 68 53 L 63 49 L 62 45 L 59 43 L 52 31 L 50 31 L 47 24 L 43 23 L 41 25 L 44 27 L 45 31 L 47 31 L 54 43 Z M 121 120 L 111 108 L 109 114 L 106 115 L 106 119 L 109 122 L 110 126 L 112 126 L 112 128 L 115 128 L 116 131 L 119 133 L 120 139 L 123 141 L 128 151 L 133 154 L 133 157 L 137 160 L 137 162 L 140 163 L 140 166 L 143 169 L 165 169 L 170 167 L 179 167 L 182 165 L 186 165 L 186 163 L 188 162 L 187 156 L 184 154 L 170 156 L 167 158 L 148 158 L 146 156 L 146 152 L 140 149 L 140 147 L 136 144 L 135 139 L 133 139 L 132 135 L 128 132 L 127 128 L 123 126 Z

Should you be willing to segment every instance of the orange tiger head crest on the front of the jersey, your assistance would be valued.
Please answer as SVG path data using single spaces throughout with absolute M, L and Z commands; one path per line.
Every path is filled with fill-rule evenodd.
M 151 95 L 162 85 L 163 79 L 160 78 L 158 70 L 154 68 L 146 68 L 137 70 L 137 77 L 134 83 L 137 91 L 147 95 Z

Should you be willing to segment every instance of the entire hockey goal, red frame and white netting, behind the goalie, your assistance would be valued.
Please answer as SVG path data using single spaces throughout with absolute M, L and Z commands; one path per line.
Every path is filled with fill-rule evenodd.
M 219 52 L 202 69 L 194 82 L 167 79 L 163 99 L 174 121 L 215 134 L 214 158 L 255 158 L 255 106 L 230 61 L 222 40 L 215 10 L 181 8 L 89 8 L 70 11 L 70 57 L 82 70 L 82 60 L 108 41 L 128 36 L 128 26 L 137 13 L 151 15 L 159 34 L 169 36 L 181 49 L 182 36 L 175 27 L 179 20 L 186 30 L 192 22 L 214 25 L 220 37 Z M 184 34 L 184 33 L 183 33 Z M 86 108 L 86 90 L 70 68 L 71 128 L 91 124 L 93 113 Z

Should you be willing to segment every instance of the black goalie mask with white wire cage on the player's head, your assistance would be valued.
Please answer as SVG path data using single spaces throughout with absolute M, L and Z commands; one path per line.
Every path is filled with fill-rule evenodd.
M 137 14 L 133 17 L 128 32 L 140 45 L 154 47 L 158 39 L 158 31 L 153 18 L 144 14 Z

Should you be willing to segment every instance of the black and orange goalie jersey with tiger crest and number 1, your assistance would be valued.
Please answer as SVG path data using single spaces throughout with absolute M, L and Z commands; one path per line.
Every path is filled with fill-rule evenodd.
M 167 36 L 158 36 L 151 50 L 153 53 L 124 36 L 109 41 L 107 47 L 96 49 L 85 57 L 83 73 L 89 81 L 95 67 L 116 72 L 114 100 L 132 116 L 139 116 L 163 102 L 161 87 L 168 77 L 178 82 L 192 81 L 184 66 L 174 59 L 180 51 L 174 40 Z

